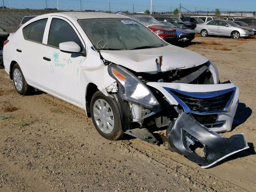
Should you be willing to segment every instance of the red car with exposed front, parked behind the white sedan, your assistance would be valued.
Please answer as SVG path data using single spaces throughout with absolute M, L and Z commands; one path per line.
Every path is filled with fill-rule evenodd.
M 162 24 L 152 16 L 129 15 L 129 17 L 137 20 L 167 42 L 178 41 L 178 36 L 175 28 Z

